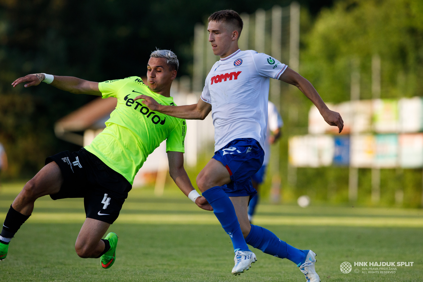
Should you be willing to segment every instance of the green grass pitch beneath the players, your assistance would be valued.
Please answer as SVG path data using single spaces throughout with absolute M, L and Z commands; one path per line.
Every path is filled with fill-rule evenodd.
M 22 183 L 4 184 L 0 220 Z M 0 263 L 0 281 L 305 281 L 289 260 L 252 249 L 258 261 L 234 277 L 231 240 L 211 212 L 181 192 L 133 189 L 109 231 L 119 235 L 116 263 L 82 259 L 74 243 L 84 221 L 82 199 L 36 202 L 33 216 L 12 239 Z M 386 208 L 299 208 L 260 205 L 256 224 L 288 244 L 312 249 L 322 281 L 423 281 L 422 210 Z M 303 222 L 303 225 L 299 223 Z M 342 262 L 352 263 L 343 274 Z M 362 273 L 354 262 L 413 261 L 395 274 Z M 359 269 L 359 273 L 354 270 Z

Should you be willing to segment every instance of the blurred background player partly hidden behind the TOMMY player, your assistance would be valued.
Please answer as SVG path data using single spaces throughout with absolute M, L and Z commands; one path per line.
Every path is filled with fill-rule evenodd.
M 277 111 L 277 108 L 275 104 L 273 104 L 271 101 L 268 102 L 267 106 L 267 132 L 266 132 L 266 141 L 264 142 L 264 160 L 263 165 L 260 167 L 258 172 L 255 172 L 253 176 L 251 176 L 251 182 L 253 183 L 254 189 L 257 191 L 257 194 L 250 200 L 250 204 L 248 205 L 248 220 L 253 222 L 253 215 L 255 213 L 255 207 L 258 204 L 259 200 L 259 187 L 261 183 L 264 182 L 264 176 L 266 175 L 266 168 L 269 164 L 270 159 L 270 145 L 275 143 L 280 135 L 281 131 L 280 129 L 283 126 L 283 120 L 280 117 L 279 112 Z

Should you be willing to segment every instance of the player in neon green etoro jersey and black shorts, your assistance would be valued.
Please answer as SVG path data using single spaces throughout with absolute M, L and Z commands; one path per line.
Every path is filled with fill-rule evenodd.
M 140 77 L 90 82 L 76 77 L 30 74 L 12 85 L 25 87 L 47 82 L 56 88 L 79 94 L 116 97 L 118 104 L 106 121 L 106 128 L 90 145 L 80 151 L 58 153 L 46 159 L 46 165 L 28 181 L 12 203 L 0 236 L 0 260 L 4 260 L 9 242 L 31 215 L 37 198 L 50 195 L 53 200 L 84 198 L 86 219 L 75 243 L 83 258 L 101 257 L 103 268 L 115 262 L 118 236 L 107 229 L 118 218 L 132 188 L 135 174 L 148 154 L 166 140 L 169 172 L 182 192 L 199 207 L 211 210 L 204 197 L 195 192 L 184 170 L 184 119 L 173 118 L 148 109 L 134 98 L 140 93 L 154 97 L 163 105 L 175 105 L 170 86 L 176 78 L 179 61 L 169 50 L 151 53 L 147 65 L 148 85 Z

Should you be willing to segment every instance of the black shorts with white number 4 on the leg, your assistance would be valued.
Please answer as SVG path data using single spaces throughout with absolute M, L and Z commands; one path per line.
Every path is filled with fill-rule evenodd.
M 49 156 L 46 164 L 50 162 L 56 162 L 63 175 L 60 191 L 50 195 L 53 200 L 84 198 L 88 218 L 113 224 L 132 189 L 124 176 L 84 148 Z

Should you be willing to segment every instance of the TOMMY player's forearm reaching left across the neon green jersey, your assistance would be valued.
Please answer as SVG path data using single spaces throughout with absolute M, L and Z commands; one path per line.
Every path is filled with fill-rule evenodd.
M 141 103 L 145 104 L 148 109 L 152 111 L 161 112 L 165 115 L 170 115 L 175 118 L 184 118 L 187 120 L 203 120 L 211 111 L 211 104 L 198 100 L 197 104 L 186 106 L 165 106 L 157 103 L 156 100 L 150 96 L 140 95 L 134 100 L 144 99 Z

